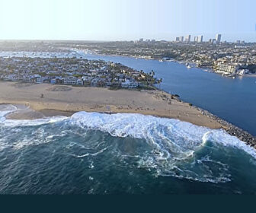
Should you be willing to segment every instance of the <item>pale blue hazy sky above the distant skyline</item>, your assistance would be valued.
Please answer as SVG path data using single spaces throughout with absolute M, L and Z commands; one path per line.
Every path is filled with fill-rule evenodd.
M 0 39 L 256 42 L 255 0 L 0 0 Z

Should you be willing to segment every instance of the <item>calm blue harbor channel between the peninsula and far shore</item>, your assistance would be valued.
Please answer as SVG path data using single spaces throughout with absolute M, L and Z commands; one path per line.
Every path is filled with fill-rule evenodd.
M 161 88 L 171 94 L 179 94 L 181 100 L 231 122 L 252 135 L 256 135 L 256 78 L 222 77 L 201 68 L 188 69 L 177 62 L 134 59 L 123 56 L 85 55 L 87 59 L 102 59 L 120 62 L 123 65 L 155 71 L 157 78 L 163 78 Z

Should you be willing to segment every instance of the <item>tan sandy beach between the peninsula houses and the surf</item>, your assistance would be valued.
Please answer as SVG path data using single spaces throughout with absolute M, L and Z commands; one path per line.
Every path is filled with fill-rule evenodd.
M 20 110 L 8 115 L 8 119 L 71 116 L 78 111 L 141 113 L 180 119 L 211 129 L 226 129 L 226 126 L 203 115 L 196 107 L 162 91 L 111 91 L 99 87 L 21 84 L 6 81 L 0 81 L 0 91 L 0 103 L 20 106 Z

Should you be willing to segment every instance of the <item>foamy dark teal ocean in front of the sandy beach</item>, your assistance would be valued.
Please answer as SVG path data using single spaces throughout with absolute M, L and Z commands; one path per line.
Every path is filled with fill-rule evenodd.
M 140 114 L 10 120 L 15 107 L 1 110 L 0 193 L 256 192 L 256 152 L 222 130 Z

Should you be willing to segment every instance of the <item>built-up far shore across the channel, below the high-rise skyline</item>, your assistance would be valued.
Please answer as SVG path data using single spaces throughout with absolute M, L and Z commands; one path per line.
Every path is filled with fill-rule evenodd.
M 78 49 L 88 49 L 105 55 L 133 56 L 175 61 L 200 68 L 210 68 L 220 75 L 245 75 L 256 72 L 256 44 L 237 41 L 181 42 L 136 40 L 130 42 L 84 43 Z

